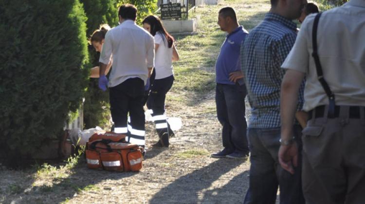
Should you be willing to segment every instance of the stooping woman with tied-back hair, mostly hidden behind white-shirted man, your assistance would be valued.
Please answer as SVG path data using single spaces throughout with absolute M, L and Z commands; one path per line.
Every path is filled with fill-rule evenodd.
M 105 34 L 110 30 L 110 26 L 108 24 L 100 25 L 98 30 L 95 30 L 89 39 L 89 44 L 92 45 L 97 52 L 101 52 L 103 48 Z M 105 75 L 108 74 L 110 67 L 111 67 L 112 60 L 110 60 L 107 69 L 105 70 Z M 99 66 L 91 68 L 90 73 L 91 78 L 99 78 Z

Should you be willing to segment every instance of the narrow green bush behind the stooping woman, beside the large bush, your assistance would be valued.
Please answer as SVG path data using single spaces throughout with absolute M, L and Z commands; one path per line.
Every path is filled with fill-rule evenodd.
M 99 29 L 100 24 L 108 23 L 110 27 L 118 25 L 118 9 L 115 0 L 80 0 L 88 17 L 87 36 Z M 100 54 L 89 45 L 90 63 L 88 68 L 99 65 Z M 106 127 L 110 117 L 109 93 L 103 92 L 98 87 L 98 79 L 90 79 L 88 89 L 85 94 L 84 103 L 84 125 L 85 128 L 99 125 Z

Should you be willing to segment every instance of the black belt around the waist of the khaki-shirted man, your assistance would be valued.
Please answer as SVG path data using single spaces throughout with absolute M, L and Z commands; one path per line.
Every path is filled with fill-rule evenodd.
M 323 118 L 324 115 L 325 115 L 325 105 L 320 105 L 320 106 L 317 106 L 315 107 L 313 110 L 310 110 L 308 112 L 308 120 L 312 119 L 313 118 L 313 111 L 315 110 L 315 116 L 314 118 Z M 334 111 L 334 115 L 332 117 L 329 117 L 329 119 L 331 118 L 338 118 L 340 116 L 340 109 L 341 109 L 341 106 L 339 105 L 336 105 L 335 106 L 335 111 Z M 350 119 L 360 119 L 360 110 L 364 111 L 364 114 L 365 114 L 365 108 L 362 107 L 362 106 L 350 106 L 349 107 L 349 115 L 348 115 L 348 118 Z

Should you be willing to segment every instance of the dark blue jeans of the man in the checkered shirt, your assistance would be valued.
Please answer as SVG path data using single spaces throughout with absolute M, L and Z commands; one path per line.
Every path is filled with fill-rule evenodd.
M 304 204 L 302 192 L 302 141 L 301 128 L 294 126 L 298 144 L 298 167 L 292 175 L 278 162 L 280 127 L 273 129 L 248 128 L 250 147 L 250 187 L 244 204 L 275 204 L 277 187 L 280 187 L 280 204 Z

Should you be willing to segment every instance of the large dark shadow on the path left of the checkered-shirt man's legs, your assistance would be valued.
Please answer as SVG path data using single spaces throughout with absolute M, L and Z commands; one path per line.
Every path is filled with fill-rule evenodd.
M 201 194 L 204 194 L 202 197 L 203 199 L 211 199 L 212 197 L 210 195 L 212 194 L 212 192 L 207 191 L 207 193 L 204 193 L 202 191 L 205 188 L 210 187 L 213 182 L 217 181 L 220 178 L 220 176 L 236 168 L 243 162 L 245 161 L 234 159 L 219 159 L 206 167 L 195 170 L 185 176 L 178 178 L 167 187 L 162 188 L 153 196 L 149 203 L 200 203 L 202 202 L 200 198 Z M 225 192 L 226 190 L 228 190 L 228 187 L 231 186 L 230 184 L 233 185 L 233 182 L 241 182 L 238 181 L 241 177 L 237 177 L 237 179 L 229 182 L 226 187 L 223 187 L 222 190 L 218 190 L 218 192 Z

